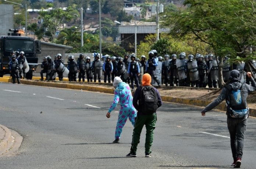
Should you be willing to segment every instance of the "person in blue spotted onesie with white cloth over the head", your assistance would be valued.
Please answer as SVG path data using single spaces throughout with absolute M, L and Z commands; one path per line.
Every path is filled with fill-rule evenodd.
M 109 112 L 107 112 L 106 117 L 110 118 L 110 112 L 115 109 L 118 101 L 120 101 L 120 110 L 117 120 L 117 127 L 115 128 L 115 140 L 113 143 L 120 142 L 120 135 L 122 133 L 122 128 L 127 121 L 127 118 L 131 121 L 132 125 L 135 125 L 135 117 L 137 116 L 136 109 L 132 105 L 132 93 L 128 84 L 122 82 L 120 77 L 115 77 L 113 86 L 115 88 L 114 91 L 114 101 L 109 108 Z

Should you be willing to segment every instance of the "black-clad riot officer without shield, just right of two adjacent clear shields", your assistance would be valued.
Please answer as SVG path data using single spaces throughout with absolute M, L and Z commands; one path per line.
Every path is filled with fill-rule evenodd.
M 208 66 L 203 60 L 203 55 L 198 56 L 198 72 L 199 80 L 196 87 L 206 87 L 206 75 L 208 74 Z

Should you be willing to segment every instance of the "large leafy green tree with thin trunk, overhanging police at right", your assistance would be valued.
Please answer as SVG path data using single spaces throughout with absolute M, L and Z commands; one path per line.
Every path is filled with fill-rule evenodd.
M 242 16 L 237 14 L 238 11 L 245 11 L 243 1 L 185 0 L 184 5 L 189 6 L 184 11 L 164 12 L 161 19 L 165 22 L 161 22 L 161 27 L 169 28 L 175 38 L 193 34 L 193 40 L 210 45 L 215 55 L 220 56 L 218 67 L 220 87 L 223 87 L 223 57 L 230 55 L 231 58 L 245 58 L 246 49 L 255 40 L 251 30 L 237 17 Z

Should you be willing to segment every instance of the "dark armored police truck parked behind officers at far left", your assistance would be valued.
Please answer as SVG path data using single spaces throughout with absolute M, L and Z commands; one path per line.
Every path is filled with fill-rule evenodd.
M 32 79 L 33 72 L 38 66 L 37 54 L 41 53 L 41 42 L 31 37 L 21 37 L 18 30 L 9 30 L 7 36 L 0 35 L 0 77 L 10 74 L 8 63 L 10 61 L 12 51 L 23 51 L 28 61 L 29 71 L 26 73 L 27 79 Z

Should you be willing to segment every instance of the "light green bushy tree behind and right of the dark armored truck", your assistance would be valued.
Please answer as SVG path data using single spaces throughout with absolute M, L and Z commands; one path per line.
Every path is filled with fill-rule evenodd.
M 47 7 L 53 7 L 53 5 L 48 3 Z M 68 7 L 65 11 L 61 8 L 53 8 L 49 11 L 39 12 L 39 19 L 43 19 L 42 27 L 46 30 L 45 34 L 50 37 L 50 41 L 54 39 L 56 31 L 61 28 L 63 23 L 74 17 L 69 14 L 72 10 L 72 7 Z

